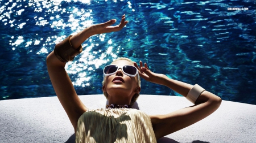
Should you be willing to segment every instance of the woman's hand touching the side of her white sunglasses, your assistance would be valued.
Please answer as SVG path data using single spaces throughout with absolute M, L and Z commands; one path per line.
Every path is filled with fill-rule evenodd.
M 139 66 L 134 62 L 134 66 L 137 67 L 139 71 L 139 76 L 141 76 L 144 80 L 150 81 L 155 84 L 163 84 L 163 75 L 159 73 L 154 73 L 148 69 L 147 63 L 143 63 L 140 61 Z

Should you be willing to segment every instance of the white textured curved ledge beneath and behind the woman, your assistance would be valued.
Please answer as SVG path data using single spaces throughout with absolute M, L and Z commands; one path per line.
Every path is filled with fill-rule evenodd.
M 106 105 L 103 95 L 79 97 L 89 109 Z M 184 97 L 141 95 L 135 105 L 154 115 L 167 114 L 192 103 Z M 0 101 L 0 142 L 74 141 L 73 127 L 57 97 Z M 222 101 L 212 115 L 158 142 L 256 142 L 256 105 Z

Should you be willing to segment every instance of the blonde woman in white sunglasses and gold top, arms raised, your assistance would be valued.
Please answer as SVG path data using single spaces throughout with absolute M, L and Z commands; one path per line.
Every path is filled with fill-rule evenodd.
M 81 53 L 82 42 L 90 36 L 119 31 L 128 23 L 125 15 L 119 25 L 110 26 L 115 21 L 92 25 L 75 36 L 69 36 L 57 44 L 47 57 L 49 77 L 75 129 L 76 142 L 156 142 L 158 138 L 188 127 L 218 109 L 221 98 L 201 86 L 169 79 L 166 75 L 151 72 L 146 63 L 143 65 L 140 62 L 138 66 L 127 58 L 121 58 L 104 68 L 102 90 L 109 100 L 107 107 L 110 109 L 89 110 L 77 96 L 64 69 L 65 63 Z M 195 106 L 166 115 L 150 116 L 129 109 L 141 92 L 139 76 L 152 83 L 168 86 L 195 103 Z

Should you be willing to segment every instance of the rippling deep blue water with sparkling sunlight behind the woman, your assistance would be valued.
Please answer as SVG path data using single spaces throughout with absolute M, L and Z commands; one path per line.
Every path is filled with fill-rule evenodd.
M 102 94 L 102 68 L 129 57 L 222 99 L 256 105 L 255 10 L 254 0 L 0 0 L 0 99 L 55 96 L 46 56 L 56 42 L 126 14 L 122 31 L 90 37 L 65 67 L 77 94 Z M 180 96 L 145 80 L 141 94 Z

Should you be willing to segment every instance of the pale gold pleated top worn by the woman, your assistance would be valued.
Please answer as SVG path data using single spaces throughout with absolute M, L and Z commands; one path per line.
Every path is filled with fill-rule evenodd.
M 156 142 L 150 117 L 137 109 L 96 109 L 82 114 L 77 142 Z

